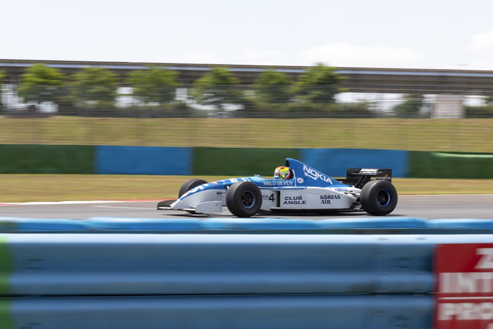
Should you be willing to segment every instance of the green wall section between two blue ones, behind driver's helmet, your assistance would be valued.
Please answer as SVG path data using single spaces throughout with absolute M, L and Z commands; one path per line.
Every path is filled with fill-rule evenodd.
M 291 148 L 195 147 L 192 173 L 195 176 L 270 176 L 276 167 L 284 165 L 285 158 L 298 159 L 298 155 L 298 149 Z

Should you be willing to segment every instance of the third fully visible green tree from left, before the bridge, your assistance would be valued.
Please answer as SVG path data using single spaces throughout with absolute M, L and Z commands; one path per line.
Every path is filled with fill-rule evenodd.
M 130 72 L 127 81 L 134 88 L 134 96 L 141 101 L 168 103 L 175 99 L 178 74 L 177 71 L 150 67 Z

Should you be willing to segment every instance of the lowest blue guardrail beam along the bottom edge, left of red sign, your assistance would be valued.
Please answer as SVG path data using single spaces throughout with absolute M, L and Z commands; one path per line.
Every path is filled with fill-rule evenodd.
M 0 314 L 2 329 L 423 329 L 431 328 L 433 300 L 425 295 L 34 297 L 0 300 L 0 306 L 7 305 L 9 312 L 3 316 Z

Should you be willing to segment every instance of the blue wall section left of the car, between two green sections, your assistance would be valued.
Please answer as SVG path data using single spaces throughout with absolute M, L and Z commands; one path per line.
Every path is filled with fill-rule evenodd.
M 191 175 L 189 147 L 96 146 L 96 174 Z

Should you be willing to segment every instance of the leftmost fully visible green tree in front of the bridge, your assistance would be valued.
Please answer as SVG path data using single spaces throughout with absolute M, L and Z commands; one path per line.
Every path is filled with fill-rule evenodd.
M 27 102 L 56 102 L 66 76 L 55 68 L 34 64 L 20 77 L 19 96 Z

